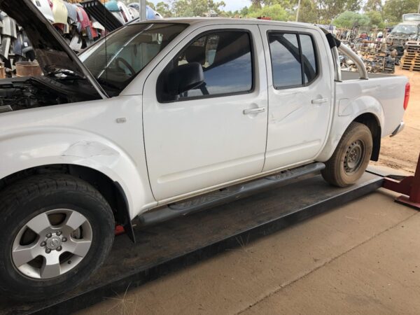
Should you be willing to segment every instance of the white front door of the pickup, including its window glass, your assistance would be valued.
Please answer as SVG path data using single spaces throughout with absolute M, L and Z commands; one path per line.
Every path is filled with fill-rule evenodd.
M 190 62 L 201 64 L 204 84 L 169 94 L 167 73 Z M 156 200 L 262 172 L 267 79 L 258 64 L 264 63 L 257 26 L 217 25 L 193 31 L 151 73 L 144 86 L 144 141 Z

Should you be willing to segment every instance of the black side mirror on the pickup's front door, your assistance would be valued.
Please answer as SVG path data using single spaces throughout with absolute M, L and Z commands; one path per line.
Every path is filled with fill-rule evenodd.
M 198 62 L 181 64 L 168 73 L 168 92 L 175 96 L 193 90 L 204 83 L 204 71 Z

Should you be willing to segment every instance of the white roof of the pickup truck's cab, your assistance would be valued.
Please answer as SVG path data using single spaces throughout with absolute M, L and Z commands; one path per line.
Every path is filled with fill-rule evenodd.
M 144 21 L 150 23 L 151 21 Z M 258 19 L 237 19 L 237 18 L 165 18 L 161 20 L 153 20 L 155 22 L 171 22 L 171 23 L 184 23 L 194 26 L 207 26 L 218 24 L 230 25 L 276 25 L 283 27 L 304 27 L 308 29 L 318 29 L 315 25 L 302 22 L 279 22 L 272 20 L 258 20 Z M 143 23 L 143 22 L 137 22 Z

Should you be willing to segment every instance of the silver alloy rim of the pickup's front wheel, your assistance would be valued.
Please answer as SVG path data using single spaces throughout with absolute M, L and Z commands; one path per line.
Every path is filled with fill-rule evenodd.
M 53 209 L 31 218 L 12 246 L 15 267 L 25 276 L 50 279 L 69 272 L 87 255 L 92 227 L 78 211 Z

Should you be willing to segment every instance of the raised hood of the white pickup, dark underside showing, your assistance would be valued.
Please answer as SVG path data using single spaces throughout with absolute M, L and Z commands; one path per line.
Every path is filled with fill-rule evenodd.
M 25 29 L 45 75 L 58 69 L 73 71 L 89 80 L 102 98 L 107 98 L 101 85 L 31 0 L 0 0 L 0 10 Z

